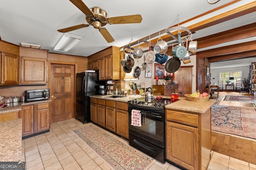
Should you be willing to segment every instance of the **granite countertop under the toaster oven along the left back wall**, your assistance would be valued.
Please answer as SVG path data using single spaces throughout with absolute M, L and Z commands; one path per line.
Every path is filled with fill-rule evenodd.
M 0 114 L 13 112 L 13 111 L 20 111 L 21 106 L 28 106 L 31 104 L 38 104 L 38 103 L 45 103 L 45 102 L 51 102 L 52 100 L 38 100 L 38 101 L 32 101 L 32 102 L 16 102 L 16 103 L 8 103 L 7 107 L 4 109 L 0 109 Z

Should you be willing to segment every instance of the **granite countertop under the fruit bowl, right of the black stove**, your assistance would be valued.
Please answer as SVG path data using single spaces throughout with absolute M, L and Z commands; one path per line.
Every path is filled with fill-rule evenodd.
M 165 106 L 166 109 L 175 109 L 182 111 L 190 111 L 196 113 L 205 113 L 216 100 L 209 99 L 206 102 L 191 102 L 186 100 L 186 98 L 179 98 L 177 102 L 168 104 Z

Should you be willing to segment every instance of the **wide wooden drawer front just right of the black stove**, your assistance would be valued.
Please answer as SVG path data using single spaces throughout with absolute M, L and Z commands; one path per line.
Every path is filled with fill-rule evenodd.
M 198 127 L 199 115 L 166 109 L 166 121 Z

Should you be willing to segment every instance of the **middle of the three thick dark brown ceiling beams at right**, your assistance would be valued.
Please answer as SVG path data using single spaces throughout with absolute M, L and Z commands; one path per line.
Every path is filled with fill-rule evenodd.
M 256 49 L 256 41 L 249 41 L 246 43 L 228 45 L 225 47 L 219 47 L 215 49 L 197 52 L 196 59 L 215 57 L 220 55 L 228 55 L 228 54 L 240 53 L 244 51 L 252 51 L 255 49 Z

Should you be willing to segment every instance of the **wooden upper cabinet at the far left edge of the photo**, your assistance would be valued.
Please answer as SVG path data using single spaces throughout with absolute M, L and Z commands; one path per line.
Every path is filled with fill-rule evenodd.
M 19 84 L 19 47 L 0 41 L 0 86 Z

